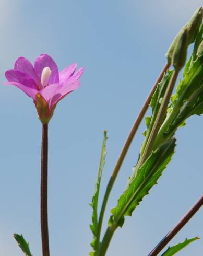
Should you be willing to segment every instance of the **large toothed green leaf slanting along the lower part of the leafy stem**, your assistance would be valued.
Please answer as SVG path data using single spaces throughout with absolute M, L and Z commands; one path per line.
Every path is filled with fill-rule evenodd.
M 162 171 L 172 159 L 175 139 L 163 144 L 149 156 L 146 162 L 137 170 L 136 176 L 128 188 L 118 199 L 118 204 L 111 210 L 110 225 L 122 226 L 124 216 L 131 216 L 143 197 L 149 193 L 153 185 L 157 184 Z

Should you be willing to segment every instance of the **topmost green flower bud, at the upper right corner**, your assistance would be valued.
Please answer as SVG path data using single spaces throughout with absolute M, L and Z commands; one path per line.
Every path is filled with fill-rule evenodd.
M 192 18 L 189 20 L 187 24 L 187 31 L 188 31 L 188 44 L 191 44 L 195 41 L 197 33 L 199 31 L 199 27 L 201 25 L 203 18 L 203 9 L 200 7 L 198 10 L 195 11 Z

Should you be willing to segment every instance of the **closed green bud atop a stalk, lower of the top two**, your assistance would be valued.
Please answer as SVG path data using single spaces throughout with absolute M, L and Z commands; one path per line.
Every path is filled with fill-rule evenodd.
M 172 55 L 172 65 L 176 70 L 180 70 L 184 65 L 187 57 L 188 32 L 183 29 L 179 34 Z

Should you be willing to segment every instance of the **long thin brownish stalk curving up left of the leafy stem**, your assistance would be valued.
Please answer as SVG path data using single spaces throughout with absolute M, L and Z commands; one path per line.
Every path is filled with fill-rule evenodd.
M 154 91 L 156 90 L 157 88 L 157 85 L 158 83 L 160 82 L 160 80 L 162 79 L 164 73 L 167 71 L 167 69 L 170 67 L 170 64 L 169 63 L 166 63 L 163 70 L 161 71 L 156 83 L 154 84 L 153 88 L 151 89 L 150 91 L 150 94 L 148 95 L 144 105 L 142 106 L 142 109 L 140 110 L 138 116 L 137 116 L 137 119 L 126 139 L 126 142 L 123 146 L 123 149 L 122 149 L 122 152 L 120 154 L 120 156 L 118 157 L 118 160 L 116 162 L 116 165 L 114 167 L 114 170 L 113 170 L 113 173 L 112 173 L 112 176 L 109 180 L 109 183 L 106 187 L 106 191 L 105 191 L 105 194 L 104 194 L 104 199 L 103 199 L 103 202 L 102 202 L 102 206 L 101 206 L 101 211 L 100 211 L 100 216 L 99 216 L 99 221 L 98 221 L 98 233 L 97 233 L 97 248 L 99 247 L 99 241 L 100 241 L 100 235 L 101 235 L 101 227 L 102 227 L 102 222 L 103 222 L 103 216 L 104 216 L 104 212 L 105 212 L 105 208 L 106 208 L 106 204 L 108 202 L 108 199 L 109 199 L 109 195 L 111 193 L 111 190 L 112 190 L 112 187 L 113 187 L 113 184 L 116 180 L 116 177 L 117 177 L 117 174 L 123 164 L 123 160 L 126 156 L 126 153 L 130 147 L 130 144 L 132 143 L 133 141 L 133 138 L 137 132 L 137 129 L 142 121 L 142 119 L 144 118 L 144 115 L 149 107 L 149 103 L 150 103 L 150 100 L 151 100 L 151 97 L 152 95 L 154 94 Z M 98 253 L 98 252 L 97 252 Z

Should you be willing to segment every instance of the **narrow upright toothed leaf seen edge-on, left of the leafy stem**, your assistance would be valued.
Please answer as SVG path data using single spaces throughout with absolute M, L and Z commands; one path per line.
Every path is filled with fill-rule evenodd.
M 102 176 L 102 171 L 104 168 L 105 164 L 105 156 L 106 156 L 106 141 L 107 141 L 107 133 L 104 131 L 104 138 L 103 138 L 103 143 L 102 143 L 102 149 L 101 149 L 101 157 L 100 157 L 100 164 L 99 164 L 99 170 L 98 170 L 98 177 L 95 185 L 95 192 L 92 197 L 92 202 L 91 206 L 93 208 L 93 213 L 92 213 L 92 224 L 90 225 L 90 229 L 93 233 L 93 241 L 91 242 L 92 248 L 94 248 L 94 245 L 97 241 L 97 228 L 98 228 L 98 216 L 97 216 L 97 208 L 98 208 L 98 199 L 99 199 L 99 190 L 100 190 L 100 182 L 101 182 L 101 176 Z M 93 253 L 93 252 L 92 252 Z

